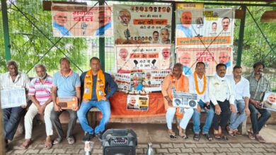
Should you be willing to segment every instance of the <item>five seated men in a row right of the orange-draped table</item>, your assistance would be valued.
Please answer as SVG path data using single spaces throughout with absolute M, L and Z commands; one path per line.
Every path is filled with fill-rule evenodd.
M 209 129 L 213 123 L 214 139 L 226 141 L 228 138 L 223 130 L 231 136 L 241 135 L 238 126 L 251 117 L 252 128 L 248 130 L 248 136 L 258 142 L 265 142 L 260 135 L 260 130 L 265 125 L 271 112 L 262 109 L 262 101 L 265 91 L 270 91 L 270 82 L 264 76 L 265 65 L 261 62 L 253 65 L 253 72 L 247 77 L 242 77 L 241 66 L 234 66 L 233 75 L 226 74 L 226 65 L 219 63 L 216 66 L 216 74 L 210 80 L 205 75 L 205 63 L 197 62 L 195 72 L 189 77 L 183 75 L 183 65 L 176 63 L 171 74 L 167 75 L 161 86 L 166 109 L 166 123 L 168 136 L 176 140 L 176 133 L 173 132 L 172 123 L 174 116 L 179 116 L 178 135 L 183 139 L 185 129 L 190 118 L 193 120 L 193 140 L 200 140 L 200 112 L 203 109 L 207 115 L 202 128 L 202 135 L 207 140 L 213 140 Z M 183 109 L 173 106 L 173 91 L 190 92 L 197 94 L 197 109 Z M 238 115 L 238 113 L 240 113 Z M 258 116 L 260 113 L 260 116 Z

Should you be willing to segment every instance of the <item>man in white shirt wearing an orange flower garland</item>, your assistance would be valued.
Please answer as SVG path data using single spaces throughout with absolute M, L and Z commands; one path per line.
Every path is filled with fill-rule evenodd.
M 194 110 L 192 120 L 194 123 L 193 130 L 195 132 L 193 139 L 195 141 L 200 140 L 200 110 L 204 109 L 207 113 L 205 119 L 205 125 L 202 128 L 202 134 L 206 139 L 211 141 L 213 137 L 209 135 L 209 128 L 212 125 L 214 117 L 214 109 L 210 106 L 209 89 L 208 89 L 208 77 L 205 75 L 205 63 L 197 62 L 195 66 L 195 73 L 189 75 L 189 88 L 190 93 L 197 94 L 197 109 Z

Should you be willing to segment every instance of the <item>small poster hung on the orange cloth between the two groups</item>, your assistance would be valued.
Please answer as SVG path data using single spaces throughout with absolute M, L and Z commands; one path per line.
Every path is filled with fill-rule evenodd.
M 149 109 L 149 96 L 142 95 L 127 95 L 127 110 L 142 110 Z

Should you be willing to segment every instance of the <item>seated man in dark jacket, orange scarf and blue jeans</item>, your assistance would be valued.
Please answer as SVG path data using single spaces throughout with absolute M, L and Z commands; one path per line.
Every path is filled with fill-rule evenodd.
M 79 123 L 86 135 L 83 141 L 90 141 L 94 135 L 101 136 L 105 130 L 105 125 L 110 118 L 110 103 L 108 99 L 117 90 L 117 84 L 110 74 L 100 70 L 100 60 L 96 57 L 90 59 L 91 70 L 81 74 L 81 108 L 77 112 Z M 110 90 L 108 92 L 108 87 Z M 92 108 L 97 107 L 102 113 L 103 118 L 95 129 L 89 126 L 86 113 Z

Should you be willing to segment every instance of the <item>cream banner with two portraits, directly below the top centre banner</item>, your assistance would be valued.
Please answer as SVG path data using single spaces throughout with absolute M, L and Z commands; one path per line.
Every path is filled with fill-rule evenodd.
M 166 70 L 171 67 L 171 46 L 116 46 L 117 73 L 131 70 Z

